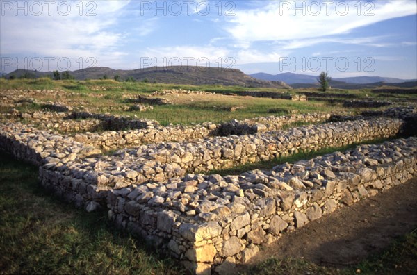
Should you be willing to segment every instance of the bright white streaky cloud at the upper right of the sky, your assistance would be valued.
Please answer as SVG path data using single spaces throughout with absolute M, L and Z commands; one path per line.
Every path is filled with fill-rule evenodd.
M 365 6 L 371 2 L 362 1 L 359 11 L 354 6 L 357 1 L 334 1 L 328 5 L 328 11 L 327 6 L 321 5 L 320 12 L 314 6 L 309 6 L 311 3 L 324 2 L 270 1 L 265 5 L 265 1 L 262 1 L 263 8 L 236 10 L 236 16 L 229 18 L 225 28 L 233 38 L 245 42 L 322 38 L 386 19 L 414 15 L 417 5 L 415 1 L 375 1 L 375 6 Z M 301 7 L 303 3 L 304 9 L 295 10 L 295 5 Z M 345 12 L 344 6 L 337 6 L 338 3 L 348 3 L 348 10 Z M 369 12 L 373 15 L 365 16 L 370 8 Z M 296 12 L 295 15 L 293 12 Z

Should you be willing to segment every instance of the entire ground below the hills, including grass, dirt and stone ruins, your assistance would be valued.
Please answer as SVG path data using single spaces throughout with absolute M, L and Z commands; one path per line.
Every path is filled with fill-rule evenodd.
M 402 130 L 413 115 L 415 122 L 415 93 L 323 95 L 312 89 L 49 78 L 0 79 L 0 85 L 1 274 L 203 274 L 211 263 L 220 274 L 416 270 L 416 148 L 409 146 L 415 144 L 410 131 Z M 241 95 L 247 92 L 252 96 Z M 347 161 L 353 156 L 358 158 Z M 298 171 L 300 165 L 305 170 Z M 352 183 L 343 172 L 364 179 Z M 354 186 L 334 185 L 333 191 L 332 181 Z M 328 197 L 311 195 L 320 190 Z M 284 195 L 292 194 L 293 206 L 286 208 Z M 297 196 L 308 202 L 299 206 Z M 258 205 L 269 207 L 271 198 L 277 209 L 274 201 L 271 213 L 262 214 Z M 208 201 L 216 204 L 212 210 Z M 243 201 L 248 210 L 242 212 Z M 311 217 L 316 205 L 320 215 Z M 232 218 L 237 224 L 245 216 L 229 208 L 248 211 L 250 224 L 228 229 Z M 285 228 L 271 229 L 274 219 L 285 221 Z M 394 234 L 389 226 L 395 221 Z M 204 227 L 213 222 L 225 224 L 221 234 Z M 174 234 L 187 223 L 208 233 L 187 231 L 193 240 Z M 330 244 L 318 237 L 327 231 L 335 235 Z M 238 238 L 241 249 L 229 242 Z M 311 256 L 319 246 L 336 255 L 329 246 L 349 252 L 361 242 L 369 247 L 357 248 L 359 257 L 354 249 L 337 263 Z M 229 244 L 229 251 L 222 248 Z

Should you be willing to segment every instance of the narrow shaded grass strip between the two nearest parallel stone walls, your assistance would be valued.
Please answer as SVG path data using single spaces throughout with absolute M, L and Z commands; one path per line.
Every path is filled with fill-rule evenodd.
M 346 151 L 348 149 L 353 149 L 361 144 L 378 144 L 382 143 L 387 140 L 393 140 L 396 138 L 400 138 L 400 136 L 395 136 L 391 138 L 377 138 L 374 140 L 363 140 L 362 142 L 357 142 L 350 145 L 345 145 L 342 147 L 327 147 L 324 149 L 320 149 L 318 151 L 299 151 L 298 153 L 294 153 L 291 156 L 281 156 L 279 158 L 273 158 L 272 160 L 267 161 L 259 161 L 256 163 L 245 163 L 243 165 L 236 165 L 231 168 L 227 169 L 218 169 L 218 170 L 211 170 L 209 172 L 202 172 L 204 174 L 220 174 L 221 176 L 227 175 L 240 175 L 244 172 L 251 171 L 254 169 L 263 169 L 268 170 L 272 169 L 272 167 L 276 165 L 281 165 L 283 163 L 296 163 L 299 160 L 309 160 L 311 158 L 315 158 L 316 156 L 322 156 L 327 153 L 334 153 L 336 151 Z

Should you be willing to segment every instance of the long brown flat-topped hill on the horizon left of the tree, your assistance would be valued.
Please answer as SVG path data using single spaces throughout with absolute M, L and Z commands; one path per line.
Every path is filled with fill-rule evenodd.
M 34 77 L 52 76 L 52 72 L 36 72 L 25 69 L 17 69 L 6 75 L 6 78 L 14 75 L 16 78 L 23 75 Z M 70 74 L 77 80 L 98 79 L 106 76 L 112 78 L 120 76 L 120 80 L 133 77 L 136 81 L 147 79 L 149 82 L 188 84 L 188 85 L 240 85 L 243 87 L 272 87 L 291 88 L 281 81 L 265 81 L 253 78 L 244 74 L 238 69 L 223 69 L 215 67 L 193 67 L 193 66 L 172 66 L 172 67 L 149 67 L 145 69 L 111 69 L 108 67 L 90 67 L 70 71 Z

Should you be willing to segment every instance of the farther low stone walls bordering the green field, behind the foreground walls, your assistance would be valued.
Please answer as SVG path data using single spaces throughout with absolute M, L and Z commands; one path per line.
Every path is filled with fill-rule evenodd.
M 246 135 L 277 131 L 283 126 L 297 122 L 325 122 L 331 115 L 323 113 L 300 114 L 289 116 L 256 117 L 233 120 L 221 124 L 204 123 L 193 126 L 160 126 L 158 122 L 147 119 L 131 119 L 112 115 L 99 115 L 88 112 L 55 113 L 34 112 L 6 114 L 4 119 L 18 120 L 19 118 L 40 126 L 53 128 L 61 132 L 94 132 L 77 133 L 76 141 L 84 142 L 104 150 L 119 149 L 126 146 L 138 146 L 154 142 L 175 142 L 195 140 L 217 135 Z M 132 130 L 123 130 L 131 128 Z M 104 131 L 109 129 L 111 131 Z M 117 131 L 119 130 L 119 131 Z

